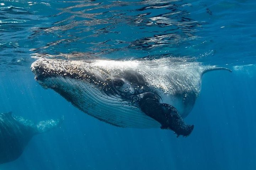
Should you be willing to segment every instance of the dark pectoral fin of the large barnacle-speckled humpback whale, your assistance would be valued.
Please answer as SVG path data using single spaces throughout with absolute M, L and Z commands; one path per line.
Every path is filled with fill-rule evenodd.
M 143 94 L 139 106 L 146 115 L 158 121 L 162 129 L 174 131 L 177 137 L 190 135 L 194 125 L 187 125 L 177 109 L 169 104 L 159 103 L 159 101 L 160 98 L 157 95 L 148 92 Z

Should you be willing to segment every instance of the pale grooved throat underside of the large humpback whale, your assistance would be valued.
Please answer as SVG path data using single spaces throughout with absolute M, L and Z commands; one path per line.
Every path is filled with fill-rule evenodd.
M 109 124 L 129 128 L 161 127 L 159 122 L 145 115 L 139 108 L 119 98 L 104 95 L 87 82 L 56 76 L 46 78 L 43 84 L 53 89 L 61 86 L 62 92 L 68 96 L 60 93 L 64 98 L 72 98 L 71 103 L 81 111 Z

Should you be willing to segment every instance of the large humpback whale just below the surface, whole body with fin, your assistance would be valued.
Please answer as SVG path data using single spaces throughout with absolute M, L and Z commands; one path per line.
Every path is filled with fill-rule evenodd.
M 188 136 L 183 120 L 201 90 L 203 73 L 229 70 L 174 58 L 63 60 L 41 58 L 36 81 L 86 114 L 119 127 L 169 129 Z

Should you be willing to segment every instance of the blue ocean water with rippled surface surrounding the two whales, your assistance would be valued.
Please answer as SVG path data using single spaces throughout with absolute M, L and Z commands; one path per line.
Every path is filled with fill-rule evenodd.
M 0 112 L 61 127 L 0 170 L 256 169 L 256 1 L 0 1 Z M 43 89 L 39 57 L 177 57 L 233 72 L 203 75 L 188 137 L 118 128 Z

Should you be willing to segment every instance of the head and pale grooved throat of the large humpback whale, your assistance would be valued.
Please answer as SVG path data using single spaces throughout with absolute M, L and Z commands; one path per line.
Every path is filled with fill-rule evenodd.
M 81 111 L 119 127 L 160 127 L 134 100 L 148 87 L 134 70 L 136 61 L 39 59 L 31 65 L 36 81 Z

